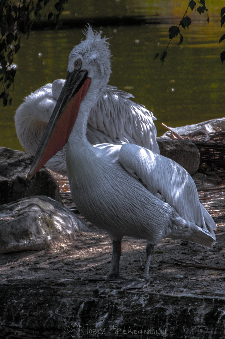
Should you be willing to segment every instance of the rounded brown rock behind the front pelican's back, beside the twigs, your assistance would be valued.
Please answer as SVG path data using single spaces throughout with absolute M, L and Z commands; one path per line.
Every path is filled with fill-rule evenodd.
M 200 164 L 198 148 L 190 140 L 157 138 L 160 154 L 176 161 L 188 171 L 195 174 Z

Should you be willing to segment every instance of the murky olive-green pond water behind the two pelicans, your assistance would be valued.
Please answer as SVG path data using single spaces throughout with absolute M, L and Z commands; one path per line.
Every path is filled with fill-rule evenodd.
M 122 2 L 113 1 L 115 6 Z M 82 6 L 87 2 L 90 3 L 87 8 L 96 13 L 92 8 L 93 1 L 77 1 L 81 6 L 80 9 L 76 8 L 77 13 L 85 12 Z M 154 6 L 148 5 L 148 1 L 126 3 L 127 6 L 140 4 L 139 7 L 132 7 L 131 14 L 135 9 L 136 14 L 146 13 L 151 16 L 152 11 L 152 16 L 156 16 L 160 12 L 159 5 L 165 1 L 155 1 Z M 225 33 L 224 28 L 220 27 L 218 16 L 222 1 L 217 1 L 218 8 L 217 12 L 214 11 L 214 16 L 210 17 L 208 12 L 211 18 L 209 24 L 206 16 L 201 15 L 202 20 L 198 21 L 198 13 L 189 14 L 193 23 L 189 31 L 186 29 L 184 32 L 182 29 L 183 44 L 177 46 L 179 38 L 173 39 L 167 49 L 165 63 L 161 66 L 159 58 L 154 60 L 154 55 L 166 47 L 169 42 L 168 29 L 177 23 L 174 23 L 174 18 L 170 22 L 170 15 L 176 16 L 178 13 L 180 19 L 186 9 L 185 1 L 176 1 L 178 4 L 182 3 L 183 7 L 178 7 L 174 14 L 176 7 L 171 6 L 171 3 L 174 5 L 175 2 L 167 1 L 167 6 L 161 7 L 162 12 L 168 15 L 168 23 L 94 27 L 101 30 L 106 37 L 111 37 L 113 58 L 109 84 L 131 93 L 135 96 L 134 101 L 145 105 L 154 113 L 158 136 L 166 132 L 161 122 L 176 127 L 224 116 L 225 65 L 222 66 L 219 54 L 225 48 L 223 42 L 218 44 L 219 38 Z M 73 14 L 72 11 L 67 12 L 69 14 L 65 15 Z M 86 11 L 85 16 L 90 15 L 89 12 Z M 23 97 L 45 83 L 66 78 L 68 55 L 82 37 L 82 29 L 73 28 L 58 33 L 50 30 L 33 31 L 28 40 L 23 39 L 20 51 L 14 59 L 17 74 L 14 92 L 11 92 L 12 105 L 3 108 L 0 102 L 0 146 L 22 150 L 14 126 L 17 107 L 23 102 Z

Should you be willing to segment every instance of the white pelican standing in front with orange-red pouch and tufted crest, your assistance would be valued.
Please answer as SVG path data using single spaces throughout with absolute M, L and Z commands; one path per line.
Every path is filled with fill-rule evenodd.
M 120 280 L 124 236 L 146 239 L 148 278 L 153 246 L 164 237 L 211 248 L 215 222 L 200 204 L 191 176 L 173 160 L 144 147 L 98 144 L 86 138 L 87 119 L 110 75 L 106 38 L 88 27 L 70 53 L 66 83 L 34 157 L 28 178 L 67 141 L 67 174 L 82 215 L 113 242 L 108 279 Z M 75 121 L 75 123 L 74 123 Z M 63 129 L 63 131 L 62 131 Z

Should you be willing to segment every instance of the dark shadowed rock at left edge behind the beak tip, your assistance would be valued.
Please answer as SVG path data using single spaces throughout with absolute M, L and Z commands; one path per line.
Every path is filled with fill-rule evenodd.
M 61 202 L 58 184 L 46 168 L 27 179 L 32 160 L 24 152 L 0 147 L 0 204 L 36 195 Z

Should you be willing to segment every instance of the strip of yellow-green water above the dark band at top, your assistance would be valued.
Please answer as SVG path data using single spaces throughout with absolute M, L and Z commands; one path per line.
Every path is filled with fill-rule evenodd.
M 188 0 L 76 0 L 76 5 L 70 0 L 64 5 L 62 15 L 69 19 L 136 15 L 171 22 L 181 19 L 187 6 Z M 206 0 L 210 18 L 219 16 L 223 6 L 223 0 Z

